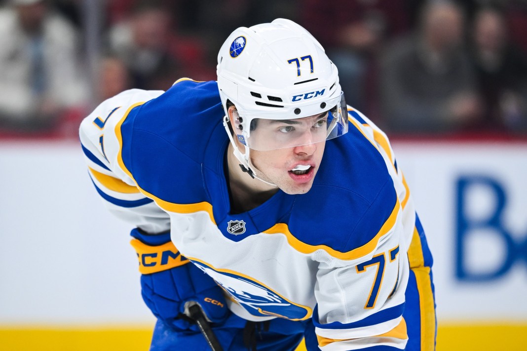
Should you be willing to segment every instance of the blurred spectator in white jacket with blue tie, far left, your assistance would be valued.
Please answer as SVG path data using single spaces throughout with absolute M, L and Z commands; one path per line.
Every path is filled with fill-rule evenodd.
M 85 104 L 86 79 L 73 25 L 44 0 L 9 0 L 0 9 L 0 127 L 52 129 Z

